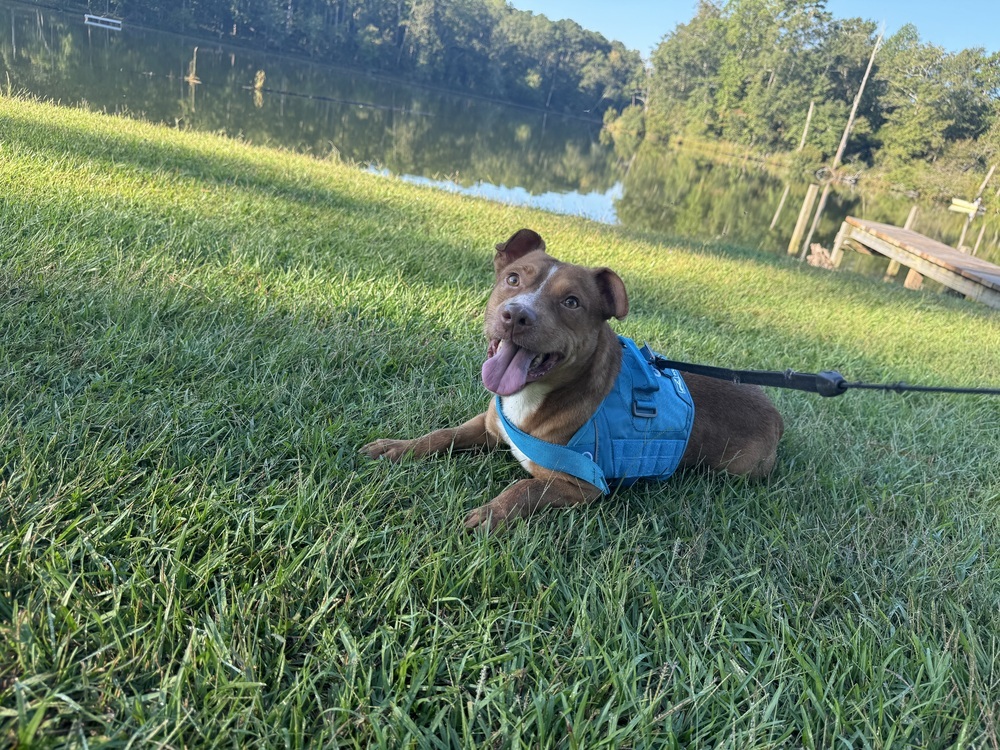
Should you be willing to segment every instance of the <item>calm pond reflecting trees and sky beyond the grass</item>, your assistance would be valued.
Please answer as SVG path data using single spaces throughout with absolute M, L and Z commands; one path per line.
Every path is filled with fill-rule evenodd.
M 0 91 L 173 127 L 219 132 L 357 163 L 379 174 L 515 205 L 693 240 L 784 253 L 807 183 L 752 162 L 643 148 L 626 168 L 600 123 L 460 96 L 224 41 L 87 26 L 0 0 Z M 962 196 L 971 197 L 971 196 Z M 838 188 L 814 241 L 829 247 L 848 215 L 903 224 L 911 199 Z M 914 228 L 956 244 L 964 218 L 922 203 Z M 1000 261 L 1000 220 L 977 219 L 966 244 Z M 862 271 L 885 262 L 848 255 Z

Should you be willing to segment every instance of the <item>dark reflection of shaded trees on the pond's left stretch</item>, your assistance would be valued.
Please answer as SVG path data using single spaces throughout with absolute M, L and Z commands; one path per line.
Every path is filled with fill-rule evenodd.
M 597 122 L 6 0 L 0 85 L 463 186 L 604 193 L 621 178 Z

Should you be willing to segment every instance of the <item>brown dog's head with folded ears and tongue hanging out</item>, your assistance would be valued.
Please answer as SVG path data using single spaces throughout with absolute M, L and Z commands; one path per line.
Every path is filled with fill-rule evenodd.
M 571 381 L 593 358 L 607 321 L 628 314 L 618 274 L 556 260 L 530 229 L 498 244 L 493 266 L 483 384 L 501 396 L 543 378 L 554 387 Z

